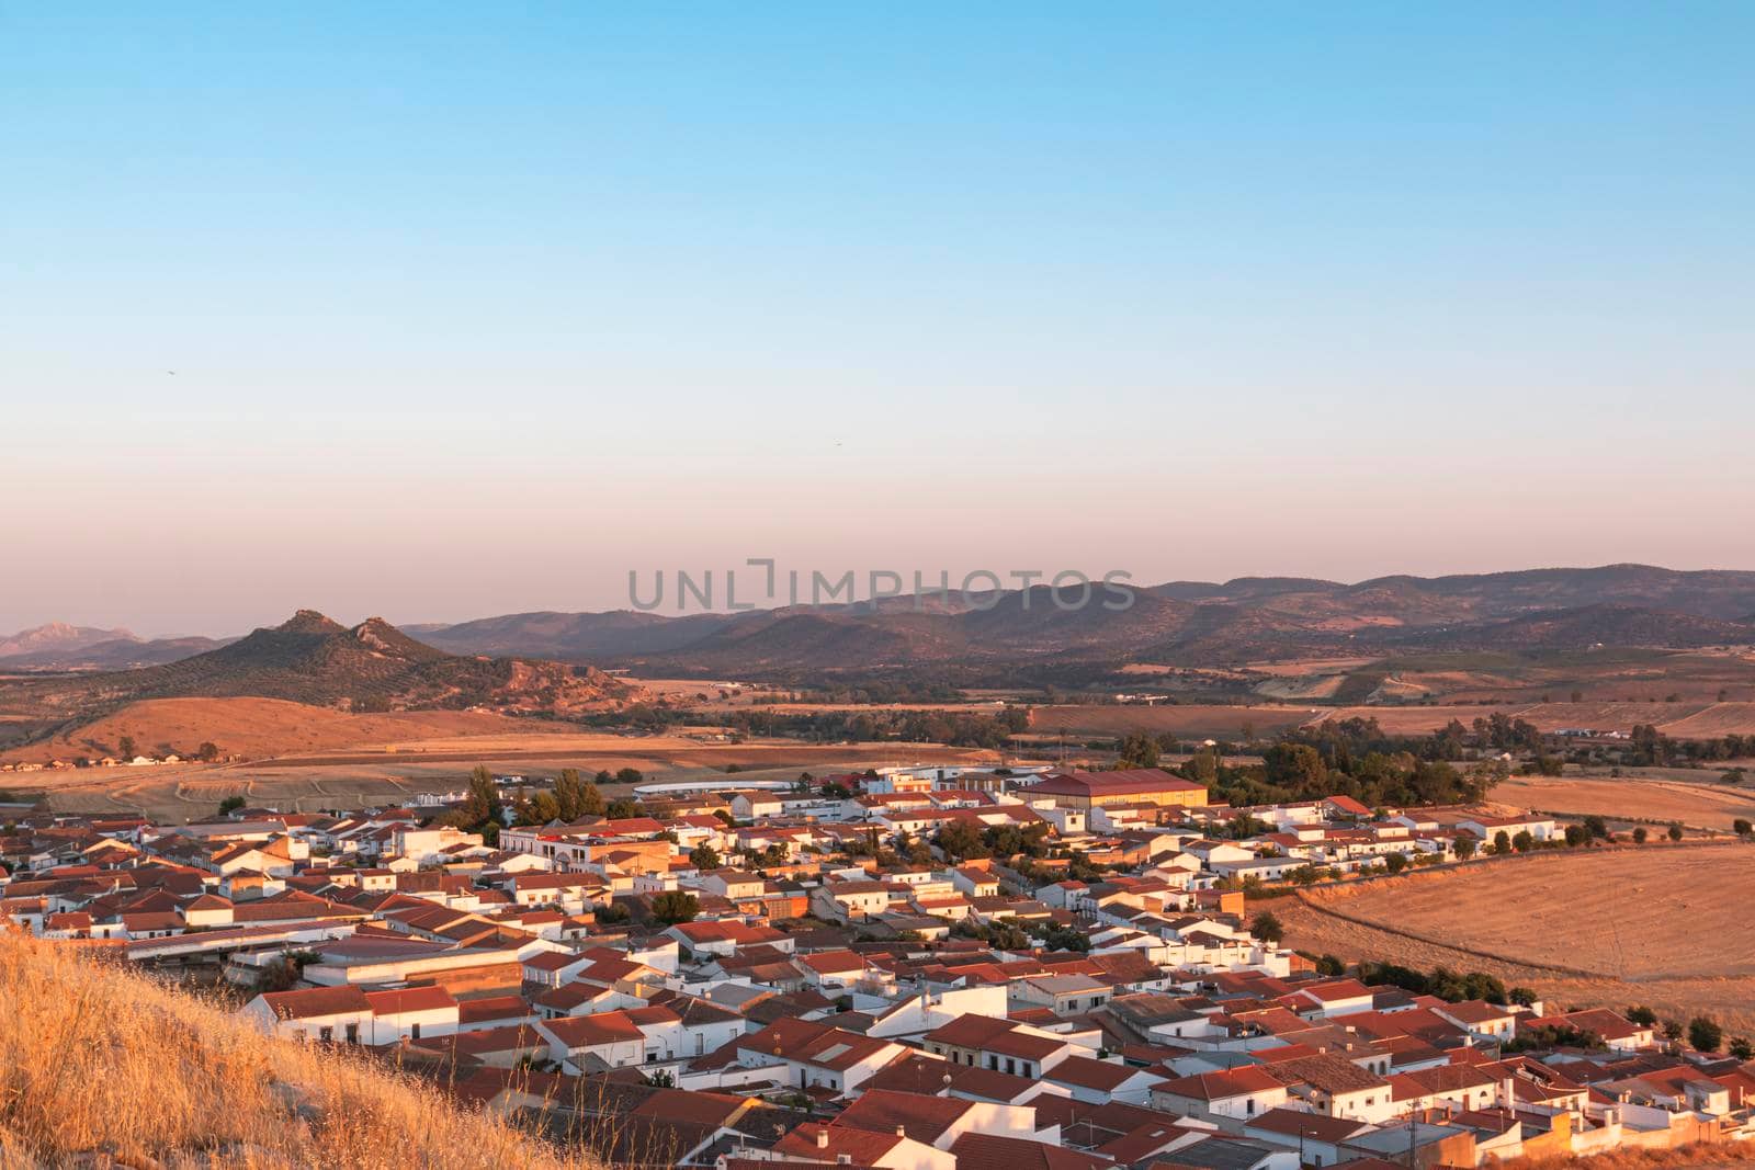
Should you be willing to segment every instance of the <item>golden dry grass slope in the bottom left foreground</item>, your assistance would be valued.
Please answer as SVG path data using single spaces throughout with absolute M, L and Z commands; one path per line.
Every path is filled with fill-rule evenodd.
M 0 933 L 0 1166 L 588 1166 L 362 1056 Z M 95 1156 L 95 1158 L 93 1158 Z

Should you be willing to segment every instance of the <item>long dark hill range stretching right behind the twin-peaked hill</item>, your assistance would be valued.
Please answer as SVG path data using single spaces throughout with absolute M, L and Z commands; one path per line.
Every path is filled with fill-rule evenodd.
M 1225 667 L 1304 654 L 1411 649 L 1695 647 L 1755 640 L 1755 572 L 1648 565 L 1451 577 L 1179 581 L 1134 605 L 1067 612 L 1046 588 L 965 605 L 953 596 L 742 614 L 511 614 L 423 628 L 456 653 L 593 660 L 651 672 L 746 677 L 895 668 L 1102 672 L 1125 661 Z

